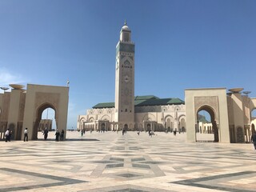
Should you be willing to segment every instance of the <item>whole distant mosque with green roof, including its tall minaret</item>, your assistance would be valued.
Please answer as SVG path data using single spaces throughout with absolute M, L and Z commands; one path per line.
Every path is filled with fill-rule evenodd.
M 134 97 L 134 51 L 126 22 L 116 46 L 115 100 L 78 116 L 79 130 L 186 131 L 185 102 L 154 95 Z

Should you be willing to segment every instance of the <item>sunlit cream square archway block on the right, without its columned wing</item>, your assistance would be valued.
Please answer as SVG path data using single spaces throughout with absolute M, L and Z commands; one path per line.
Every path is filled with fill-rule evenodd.
M 198 110 L 209 110 L 215 129 L 215 142 L 230 142 L 226 88 L 185 90 L 186 141 L 196 142 Z M 209 113 L 208 112 L 208 113 Z M 218 134 L 217 134 L 218 130 Z

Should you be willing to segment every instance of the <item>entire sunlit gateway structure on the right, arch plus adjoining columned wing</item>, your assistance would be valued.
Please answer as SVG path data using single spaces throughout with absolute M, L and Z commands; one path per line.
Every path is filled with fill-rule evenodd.
M 249 98 L 243 88 L 185 90 L 187 141 L 196 142 L 198 112 L 210 114 L 214 142 L 250 142 L 254 133 L 251 111 L 256 108 L 256 98 Z

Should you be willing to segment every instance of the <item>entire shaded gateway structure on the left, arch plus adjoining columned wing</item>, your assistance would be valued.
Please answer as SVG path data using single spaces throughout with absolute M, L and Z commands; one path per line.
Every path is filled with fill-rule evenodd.
M 42 112 L 54 110 L 58 130 L 66 131 L 69 102 L 68 86 L 24 86 L 10 84 L 10 92 L 0 94 L 0 139 L 7 129 L 12 131 L 14 140 L 23 139 L 25 128 L 29 139 L 37 139 Z

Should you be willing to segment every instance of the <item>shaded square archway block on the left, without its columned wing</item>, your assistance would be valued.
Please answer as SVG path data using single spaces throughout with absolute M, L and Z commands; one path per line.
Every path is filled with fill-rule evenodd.
M 66 133 L 68 102 L 68 86 L 39 86 L 28 84 L 22 133 L 27 128 L 29 139 L 37 139 L 35 127 L 37 127 L 36 125 L 40 119 L 39 116 L 41 115 L 42 117 L 42 111 L 49 107 L 55 111 L 58 130 L 64 130 Z M 24 135 L 22 134 L 22 139 L 23 137 Z

